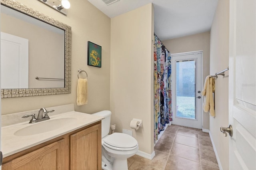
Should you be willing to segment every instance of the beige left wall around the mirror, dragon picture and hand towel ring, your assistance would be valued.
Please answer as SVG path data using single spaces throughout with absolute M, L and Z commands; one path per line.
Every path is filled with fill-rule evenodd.
M 87 0 L 71 0 L 67 16 L 37 0 L 18 2 L 71 26 L 71 94 L 2 99 L 2 115 L 69 103 L 84 113 L 110 109 L 110 18 Z M 87 65 L 87 41 L 102 46 L 101 68 Z M 78 68 L 88 73 L 88 104 L 83 106 L 76 106 Z

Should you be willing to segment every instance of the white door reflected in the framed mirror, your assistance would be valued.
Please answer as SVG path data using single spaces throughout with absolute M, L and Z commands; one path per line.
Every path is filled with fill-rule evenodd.
M 1 32 L 2 89 L 28 88 L 28 39 Z

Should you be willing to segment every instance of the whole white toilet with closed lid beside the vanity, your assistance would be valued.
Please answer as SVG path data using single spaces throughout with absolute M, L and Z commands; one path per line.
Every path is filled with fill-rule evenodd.
M 127 158 L 138 152 L 137 140 L 124 133 L 108 134 L 110 130 L 111 111 L 100 111 L 93 115 L 105 117 L 102 120 L 102 169 L 128 170 Z

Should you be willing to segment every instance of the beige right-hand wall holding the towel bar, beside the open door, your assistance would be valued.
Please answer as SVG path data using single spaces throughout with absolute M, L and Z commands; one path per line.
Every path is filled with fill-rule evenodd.
M 210 74 L 228 67 L 229 56 L 229 1 L 219 0 L 211 28 Z M 228 169 L 228 138 L 220 132 L 228 127 L 228 71 L 215 81 L 215 118 L 210 117 L 210 134 L 216 147 L 220 164 Z

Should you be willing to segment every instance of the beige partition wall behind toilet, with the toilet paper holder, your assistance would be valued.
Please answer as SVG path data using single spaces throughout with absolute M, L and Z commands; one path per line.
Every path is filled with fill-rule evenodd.
M 111 18 L 110 109 L 116 131 L 132 130 L 130 121 L 142 119 L 133 136 L 139 150 L 154 151 L 152 4 Z

